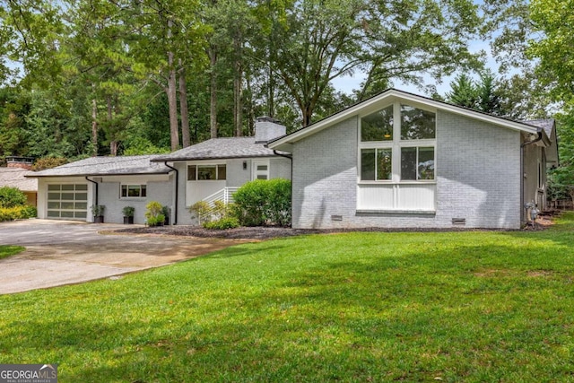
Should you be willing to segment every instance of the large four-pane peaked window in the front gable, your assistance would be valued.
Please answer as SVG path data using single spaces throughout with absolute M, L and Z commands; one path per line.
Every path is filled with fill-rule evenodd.
M 394 103 L 361 118 L 361 181 L 435 179 L 435 113 Z

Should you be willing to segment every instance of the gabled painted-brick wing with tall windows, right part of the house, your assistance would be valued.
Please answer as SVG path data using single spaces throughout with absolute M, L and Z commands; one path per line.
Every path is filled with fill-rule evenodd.
M 552 120 L 394 89 L 267 146 L 292 156 L 294 228 L 517 229 L 558 164 Z

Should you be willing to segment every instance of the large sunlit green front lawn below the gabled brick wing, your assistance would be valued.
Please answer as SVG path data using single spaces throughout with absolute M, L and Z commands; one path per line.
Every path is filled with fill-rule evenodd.
M 277 239 L 0 296 L 61 382 L 574 381 L 574 214 L 547 231 Z

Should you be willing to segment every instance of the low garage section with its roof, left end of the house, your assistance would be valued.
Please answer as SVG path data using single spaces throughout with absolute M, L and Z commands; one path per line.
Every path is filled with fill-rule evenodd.
M 90 157 L 57 168 L 30 172 L 38 178 L 38 218 L 93 222 L 94 205 L 104 207 L 105 222 L 124 221 L 123 208 L 135 208 L 145 222 L 145 205 L 174 205 L 174 170 L 150 162 L 154 156 Z M 177 222 L 174 214 L 171 222 Z

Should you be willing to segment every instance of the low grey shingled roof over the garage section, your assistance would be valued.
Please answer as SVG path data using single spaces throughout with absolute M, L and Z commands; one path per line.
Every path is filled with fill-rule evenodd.
M 91 157 L 58 166 L 57 168 L 30 172 L 26 177 L 72 177 L 72 176 L 114 176 L 140 174 L 168 174 L 167 166 L 151 162 L 154 155 L 120 157 Z

